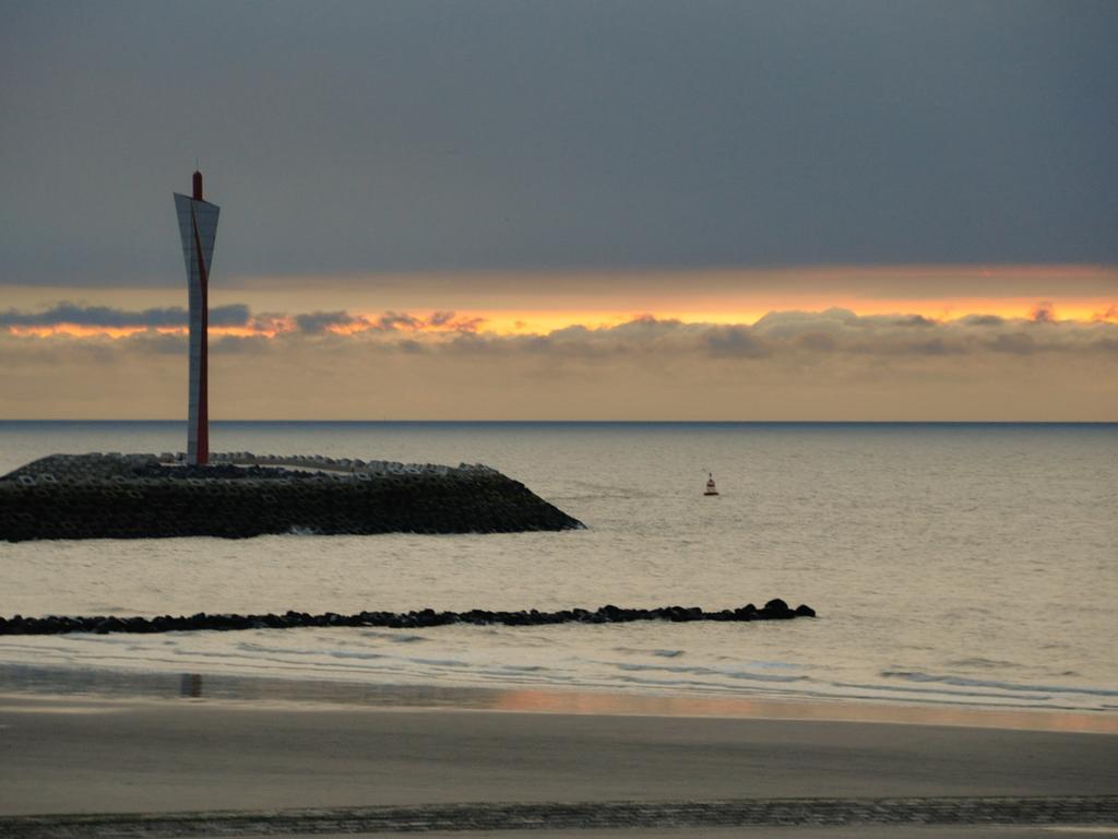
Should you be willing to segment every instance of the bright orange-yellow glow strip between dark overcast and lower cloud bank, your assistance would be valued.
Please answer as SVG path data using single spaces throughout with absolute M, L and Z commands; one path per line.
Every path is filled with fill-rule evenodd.
M 547 294 L 540 289 L 547 290 Z M 83 318 L 51 320 L 50 307 Z M 179 290 L 10 286 L 22 303 L 0 312 L 13 336 L 127 338 L 153 330 L 183 334 L 186 323 L 152 326 L 138 300 L 165 312 L 182 305 Z M 82 301 L 80 303 L 64 301 Z M 571 327 L 608 329 L 642 318 L 681 323 L 752 326 L 776 312 L 843 309 L 859 317 L 918 317 L 949 323 L 973 317 L 1077 322 L 1118 321 L 1118 268 L 1092 265 L 807 266 L 780 270 L 650 272 L 464 272 L 462 274 L 233 279 L 214 289 L 217 304 L 239 305 L 243 322 L 210 327 L 216 337 L 299 331 L 304 318 L 344 313 L 315 331 L 354 334 L 484 332 L 549 334 Z M 122 303 L 131 303 L 127 309 Z M 35 308 L 42 322 L 34 321 Z M 91 309 L 112 309 L 114 322 L 93 322 Z M 120 311 L 115 311 L 119 309 Z M 249 311 L 252 314 L 249 314 Z M 107 311 L 106 311 L 107 314 Z M 302 317 L 301 317 L 302 315 Z M 134 320 L 129 321 L 132 317 Z

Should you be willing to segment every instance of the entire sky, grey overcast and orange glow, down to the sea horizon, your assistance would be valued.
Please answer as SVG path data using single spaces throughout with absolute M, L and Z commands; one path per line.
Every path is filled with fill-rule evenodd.
M 1118 421 L 1109 0 L 0 18 L 0 418 Z

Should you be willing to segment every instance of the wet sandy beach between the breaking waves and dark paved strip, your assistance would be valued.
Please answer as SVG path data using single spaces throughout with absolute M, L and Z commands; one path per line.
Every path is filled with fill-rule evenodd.
M 0 814 L 1118 790 L 1111 715 L 68 672 L 0 673 Z

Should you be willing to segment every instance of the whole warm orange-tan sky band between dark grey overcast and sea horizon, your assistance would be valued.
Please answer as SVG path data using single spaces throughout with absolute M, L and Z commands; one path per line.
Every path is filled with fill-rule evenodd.
M 1114 266 L 231 276 L 211 292 L 219 418 L 1118 416 Z M 181 414 L 182 289 L 4 300 L 0 379 L 26 394 L 8 418 Z

